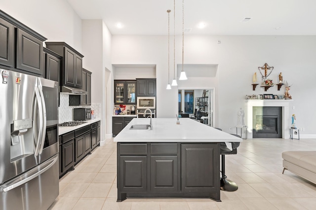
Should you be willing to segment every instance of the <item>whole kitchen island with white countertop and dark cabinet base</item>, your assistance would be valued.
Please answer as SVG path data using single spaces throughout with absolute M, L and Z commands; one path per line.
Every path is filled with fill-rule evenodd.
M 220 142 L 242 141 L 189 118 L 133 119 L 117 136 L 118 202 L 126 198 L 220 201 Z

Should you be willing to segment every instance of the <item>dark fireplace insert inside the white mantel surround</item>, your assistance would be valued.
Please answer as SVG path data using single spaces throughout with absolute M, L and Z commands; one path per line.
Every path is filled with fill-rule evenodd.
M 253 106 L 252 138 L 282 138 L 282 107 Z

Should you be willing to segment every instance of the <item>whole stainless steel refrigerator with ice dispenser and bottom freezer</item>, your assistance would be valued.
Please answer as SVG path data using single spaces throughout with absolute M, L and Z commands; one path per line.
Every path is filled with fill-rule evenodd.
M 0 209 L 47 210 L 59 194 L 58 82 L 0 73 Z

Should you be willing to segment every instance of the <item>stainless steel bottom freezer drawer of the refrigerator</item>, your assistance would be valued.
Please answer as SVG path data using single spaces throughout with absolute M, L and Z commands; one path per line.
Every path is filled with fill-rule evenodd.
M 36 168 L 0 185 L 0 209 L 47 210 L 59 194 L 58 167 L 56 154 Z

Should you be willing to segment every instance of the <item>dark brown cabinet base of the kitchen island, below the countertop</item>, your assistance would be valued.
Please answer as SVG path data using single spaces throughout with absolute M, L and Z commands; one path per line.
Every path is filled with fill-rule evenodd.
M 118 142 L 118 201 L 210 198 L 220 201 L 219 142 Z

